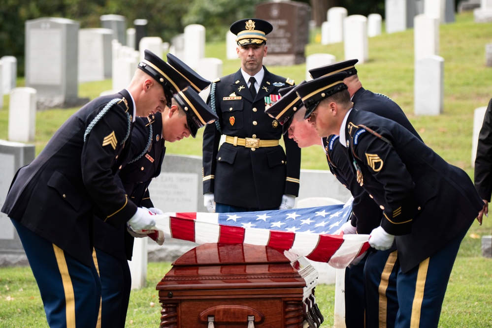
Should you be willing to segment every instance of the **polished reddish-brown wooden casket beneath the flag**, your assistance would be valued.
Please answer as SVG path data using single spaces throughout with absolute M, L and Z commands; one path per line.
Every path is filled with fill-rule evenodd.
M 318 272 L 304 257 L 209 243 L 172 265 L 156 288 L 161 328 L 316 328 L 323 322 L 314 298 Z

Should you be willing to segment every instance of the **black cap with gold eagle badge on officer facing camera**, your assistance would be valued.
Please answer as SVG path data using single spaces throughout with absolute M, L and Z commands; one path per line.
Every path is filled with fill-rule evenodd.
M 266 43 L 266 34 L 273 30 L 273 26 L 259 18 L 246 18 L 232 23 L 230 31 L 237 35 L 238 46 L 247 44 L 262 45 Z

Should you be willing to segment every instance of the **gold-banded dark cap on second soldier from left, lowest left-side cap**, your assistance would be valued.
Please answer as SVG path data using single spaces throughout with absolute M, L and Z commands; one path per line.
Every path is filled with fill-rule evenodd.
M 174 95 L 174 100 L 185 111 L 188 128 L 193 138 L 200 127 L 219 119 L 192 88 L 179 91 Z

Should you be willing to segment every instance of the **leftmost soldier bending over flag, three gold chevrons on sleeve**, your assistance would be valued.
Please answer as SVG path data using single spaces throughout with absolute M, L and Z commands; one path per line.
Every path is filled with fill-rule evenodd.
M 151 230 L 156 215 L 129 201 L 115 175 L 126 164 L 135 116 L 163 112 L 189 83 L 146 51 L 127 89 L 86 104 L 14 177 L 1 211 L 24 246 L 50 327 L 96 327 L 101 282 L 93 217 Z

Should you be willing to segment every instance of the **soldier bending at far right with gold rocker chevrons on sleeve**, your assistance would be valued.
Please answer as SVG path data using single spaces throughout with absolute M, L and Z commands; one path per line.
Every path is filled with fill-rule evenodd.
M 399 309 L 395 326 L 437 327 L 459 244 L 483 207 L 468 175 L 401 124 L 355 109 L 341 72 L 296 92 L 318 136 L 339 135 L 357 182 L 383 210 L 369 243 L 396 241 Z

